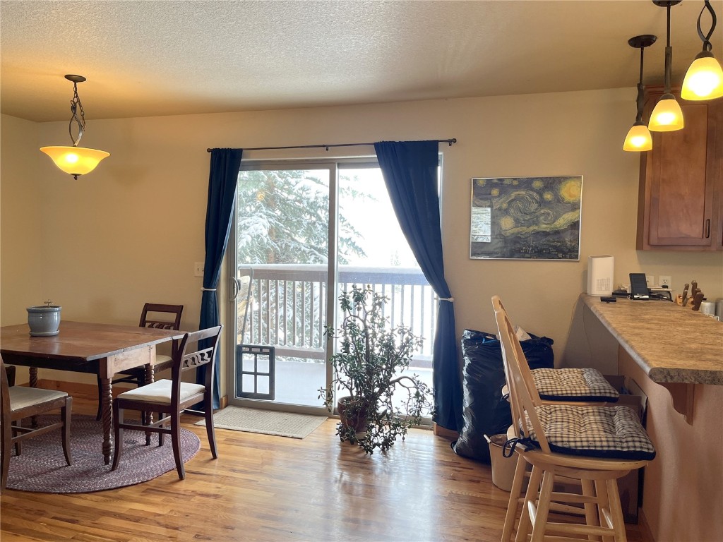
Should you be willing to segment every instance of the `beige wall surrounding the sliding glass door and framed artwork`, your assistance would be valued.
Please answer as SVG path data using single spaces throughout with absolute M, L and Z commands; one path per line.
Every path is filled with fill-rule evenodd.
M 445 272 L 457 300 L 458 334 L 467 327 L 495 330 L 489 298 L 497 293 L 524 329 L 555 339 L 558 362 L 588 364 L 588 335 L 596 329 L 583 321 L 577 298 L 586 288 L 589 255 L 615 256 L 616 283 L 626 283 L 628 272 L 644 271 L 672 275 L 674 288 L 697 279 L 709 296 L 723 296 L 723 254 L 635 250 L 638 155 L 620 149 L 634 118 L 634 99 L 635 90 L 628 88 L 104 121 L 89 116 L 83 143 L 111 157 L 77 181 L 36 150 L 37 141 L 66 144 L 66 122 L 38 124 L 38 137 L 32 137 L 27 123 L 3 117 L 4 126 L 24 128 L 22 138 L 3 129 L 3 196 L 6 160 L 11 171 L 35 174 L 19 187 L 14 204 L 14 215 L 30 227 L 13 228 L 13 251 L 27 252 L 12 262 L 5 231 L 14 220 L 3 203 L 1 291 L 14 301 L 2 304 L 2 322 L 25 322 L 25 306 L 51 297 L 63 306 L 64 319 L 129 324 L 137 322 L 144 301 L 173 301 L 186 306 L 183 326 L 197 327 L 201 282 L 192 270 L 204 257 L 207 147 L 456 137 L 456 145 L 440 150 Z M 14 151 L 16 146 L 22 150 Z M 272 156 L 247 152 L 244 159 Z M 583 176 L 579 262 L 469 259 L 471 177 L 555 175 Z M 31 212 L 40 225 L 27 218 Z M 615 354 L 615 345 L 600 341 L 602 350 L 592 357 L 614 371 L 615 361 L 603 362 L 607 350 Z

